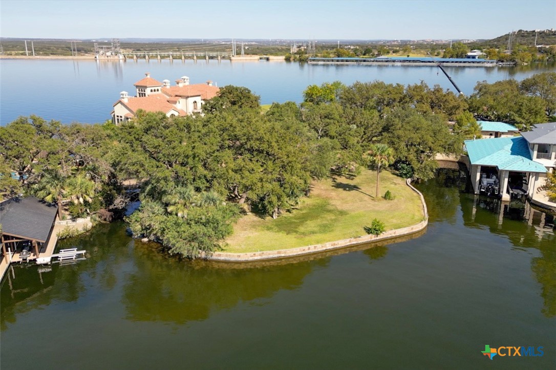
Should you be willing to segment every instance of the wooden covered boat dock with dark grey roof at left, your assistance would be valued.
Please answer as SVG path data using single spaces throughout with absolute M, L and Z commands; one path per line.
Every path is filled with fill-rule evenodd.
M 0 277 L 11 262 L 52 256 L 57 241 L 53 232 L 57 212 L 56 206 L 34 197 L 16 197 L 0 203 Z

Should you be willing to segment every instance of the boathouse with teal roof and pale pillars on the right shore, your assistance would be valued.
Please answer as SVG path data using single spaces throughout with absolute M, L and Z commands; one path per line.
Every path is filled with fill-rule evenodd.
M 521 136 L 466 140 L 465 147 L 475 194 L 535 199 L 556 167 L 556 123 L 535 124 Z

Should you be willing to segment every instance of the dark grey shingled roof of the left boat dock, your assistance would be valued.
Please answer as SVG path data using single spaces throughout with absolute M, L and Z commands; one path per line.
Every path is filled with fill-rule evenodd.
M 35 197 L 8 199 L 0 203 L 2 233 L 44 243 L 57 212 L 58 207 Z

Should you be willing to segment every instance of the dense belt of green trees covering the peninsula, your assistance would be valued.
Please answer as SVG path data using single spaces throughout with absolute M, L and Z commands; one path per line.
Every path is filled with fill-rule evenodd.
M 142 201 L 127 218 L 133 233 L 195 258 L 219 249 L 247 211 L 296 212 L 315 181 L 372 168 L 379 198 L 381 169 L 428 179 L 437 153 L 462 153 L 464 139 L 480 136 L 475 118 L 522 129 L 554 121 L 554 81 L 556 73 L 481 82 L 469 98 L 424 82 L 332 82 L 265 113 L 249 89 L 226 86 L 202 116 L 139 112 L 120 126 L 20 117 L 0 127 L 0 197 L 34 195 L 62 217 L 111 221 L 133 179 Z

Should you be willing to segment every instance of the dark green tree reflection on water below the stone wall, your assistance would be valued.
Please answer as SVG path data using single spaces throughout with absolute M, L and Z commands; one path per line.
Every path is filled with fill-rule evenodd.
M 296 289 L 327 259 L 287 266 L 251 269 L 212 269 L 168 260 L 147 247 L 135 249 L 135 268 L 127 274 L 122 303 L 126 318 L 184 324 L 203 320 L 215 310 L 239 302 L 270 298 L 282 289 Z

